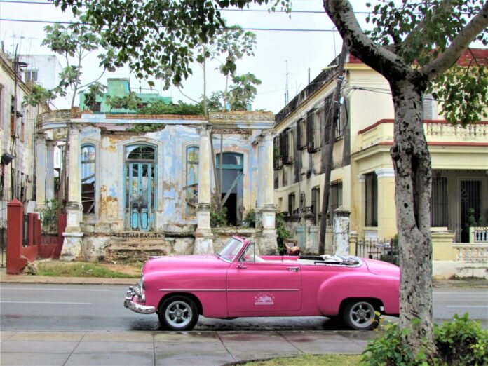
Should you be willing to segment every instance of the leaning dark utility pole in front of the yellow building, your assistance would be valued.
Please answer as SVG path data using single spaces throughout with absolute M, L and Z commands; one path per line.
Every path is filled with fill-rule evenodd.
M 344 63 L 346 62 L 347 47 L 346 43 L 342 43 L 341 56 L 339 57 L 339 68 L 337 69 L 337 84 L 334 90 L 334 97 L 332 99 L 332 110 L 334 114 L 332 115 L 332 121 L 330 123 L 329 131 L 329 142 L 327 144 L 327 153 L 325 158 L 325 179 L 323 188 L 323 198 L 322 198 L 322 215 L 320 216 L 320 236 L 318 242 L 318 252 L 325 254 L 332 254 L 334 250 L 332 243 L 325 245 L 325 229 L 327 229 L 327 208 L 329 206 L 329 186 L 330 186 L 330 173 L 332 172 L 332 153 L 334 151 L 334 140 L 335 140 L 335 128 L 337 123 L 337 118 L 339 117 L 339 99 L 341 97 L 342 81 L 344 79 Z M 327 127 L 327 123 L 325 123 Z

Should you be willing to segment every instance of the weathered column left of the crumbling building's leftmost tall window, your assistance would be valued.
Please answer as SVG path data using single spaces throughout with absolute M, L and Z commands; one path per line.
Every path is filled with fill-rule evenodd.
M 72 261 L 80 257 L 81 233 L 80 222 L 83 206 L 81 205 L 80 179 L 80 132 L 77 126 L 70 126 L 69 131 L 69 183 L 68 202 L 66 205 L 67 226 L 62 235 L 65 237 L 60 259 Z

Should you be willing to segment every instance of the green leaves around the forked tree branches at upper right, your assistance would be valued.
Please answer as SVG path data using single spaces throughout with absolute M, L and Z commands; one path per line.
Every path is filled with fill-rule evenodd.
M 381 46 L 392 50 L 405 64 L 420 69 L 445 52 L 468 21 L 482 11 L 479 0 L 402 0 L 399 6 L 381 0 L 367 17 L 373 25 L 365 32 Z M 473 37 L 488 45 L 488 30 Z M 468 60 L 460 60 L 431 80 L 428 91 L 440 103 L 442 114 L 451 123 L 475 123 L 487 118 L 488 60 L 470 51 Z

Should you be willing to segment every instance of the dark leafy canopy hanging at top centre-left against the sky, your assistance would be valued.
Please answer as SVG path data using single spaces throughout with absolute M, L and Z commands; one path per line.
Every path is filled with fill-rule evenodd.
M 179 86 L 192 74 L 194 49 L 208 44 L 224 27 L 220 9 L 250 3 L 290 10 L 288 0 L 55 0 L 62 10 L 83 6 L 90 32 L 104 35 L 110 47 L 105 67 L 128 65 L 138 79 L 162 79 L 165 89 Z M 235 54 L 234 54 L 235 55 Z M 230 67 L 232 69 L 232 67 Z

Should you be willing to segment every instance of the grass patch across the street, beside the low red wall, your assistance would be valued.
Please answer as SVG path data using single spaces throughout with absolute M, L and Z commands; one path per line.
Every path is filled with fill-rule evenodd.
M 99 277 L 99 278 L 139 278 L 140 267 L 123 271 L 110 268 L 109 264 L 88 262 L 39 262 L 37 274 L 39 276 L 59 277 Z

